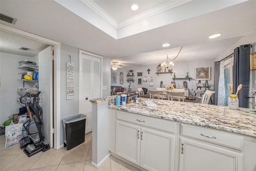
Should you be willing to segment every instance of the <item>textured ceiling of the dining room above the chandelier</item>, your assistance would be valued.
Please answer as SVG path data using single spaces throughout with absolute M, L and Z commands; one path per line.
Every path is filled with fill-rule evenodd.
M 214 42 L 207 42 L 203 44 L 183 46 L 181 51 L 181 47 L 170 48 L 166 50 L 146 52 L 122 58 L 112 58 L 111 61 L 116 62 L 116 64 L 122 64 L 123 66 L 138 65 L 138 61 L 144 61 L 141 62 L 140 65 L 154 65 L 156 64 L 156 62 L 165 62 L 167 55 L 170 60 L 174 60 L 178 55 L 179 51 L 180 54 L 174 60 L 174 62 L 210 60 L 216 58 L 216 55 L 219 55 L 222 52 L 224 52 L 227 49 L 227 47 L 232 46 L 232 44 L 234 44 L 240 38 L 242 38 L 242 36 L 225 40 L 218 40 Z M 168 60 L 168 62 L 170 60 Z

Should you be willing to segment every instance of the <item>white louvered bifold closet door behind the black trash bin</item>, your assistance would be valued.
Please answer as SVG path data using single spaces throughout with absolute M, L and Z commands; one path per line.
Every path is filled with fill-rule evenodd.
M 85 133 L 92 131 L 92 104 L 90 99 L 100 98 L 100 58 L 80 55 L 80 105 L 86 115 Z

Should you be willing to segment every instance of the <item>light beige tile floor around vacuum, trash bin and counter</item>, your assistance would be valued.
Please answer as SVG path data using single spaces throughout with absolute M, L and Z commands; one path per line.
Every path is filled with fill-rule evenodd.
M 5 135 L 0 136 L 1 171 L 139 171 L 113 156 L 110 156 L 96 169 L 92 162 L 92 133 L 85 136 L 85 142 L 67 151 L 49 149 L 27 157 L 20 144 L 4 147 Z

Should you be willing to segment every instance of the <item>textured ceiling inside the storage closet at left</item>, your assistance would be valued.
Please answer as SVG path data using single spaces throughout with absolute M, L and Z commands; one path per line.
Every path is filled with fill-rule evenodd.
M 48 46 L 35 40 L 0 31 L 0 52 L 35 57 Z M 19 50 L 20 47 L 29 48 L 29 50 Z

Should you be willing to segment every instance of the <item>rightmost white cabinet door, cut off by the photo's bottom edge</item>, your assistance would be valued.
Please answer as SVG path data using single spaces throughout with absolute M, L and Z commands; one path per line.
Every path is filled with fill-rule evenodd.
M 243 155 L 181 138 L 180 171 L 243 171 Z

